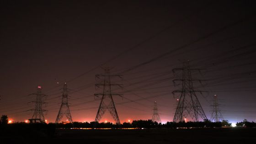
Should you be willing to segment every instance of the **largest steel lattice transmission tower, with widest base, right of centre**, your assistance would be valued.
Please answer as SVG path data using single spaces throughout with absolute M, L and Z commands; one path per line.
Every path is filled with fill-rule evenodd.
M 175 79 L 173 80 L 174 84 L 176 81 L 182 82 L 182 89 L 181 91 L 173 91 L 172 93 L 180 93 L 178 106 L 176 108 L 176 112 L 173 118 L 173 122 L 182 122 L 187 119 L 188 116 L 192 118 L 192 121 L 198 122 L 199 117 L 201 117 L 203 120 L 207 119 L 205 113 L 203 112 L 203 108 L 197 98 L 196 93 L 197 92 L 205 92 L 205 91 L 195 91 L 193 87 L 193 81 L 199 81 L 202 80 L 195 80 L 192 79 L 192 70 L 198 70 L 201 69 L 191 69 L 189 65 L 189 60 L 183 63 L 183 68 L 176 68 L 173 69 L 173 73 L 175 74 L 175 71 L 181 70 L 182 72 L 182 79 Z

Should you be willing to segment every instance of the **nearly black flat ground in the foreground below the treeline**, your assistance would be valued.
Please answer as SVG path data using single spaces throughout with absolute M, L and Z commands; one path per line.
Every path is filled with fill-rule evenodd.
M 0 136 L 0 144 L 251 144 L 256 128 L 192 129 L 57 129 L 53 136 L 41 132 Z

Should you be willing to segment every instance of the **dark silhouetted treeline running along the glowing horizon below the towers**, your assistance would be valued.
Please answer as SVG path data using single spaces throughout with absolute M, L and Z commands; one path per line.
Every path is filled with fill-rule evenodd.
M 132 123 L 123 123 L 120 125 L 114 123 L 98 123 L 98 122 L 74 122 L 74 123 L 8 123 L 8 117 L 3 115 L 0 118 L 0 128 L 25 128 L 25 129 L 43 129 L 43 128 L 220 128 L 220 127 L 230 127 L 231 123 L 225 120 L 222 122 L 211 122 L 205 120 L 204 122 L 167 122 L 165 124 L 153 122 L 152 120 L 133 120 Z M 29 125 L 29 126 L 28 126 Z M 255 122 L 248 122 L 246 119 L 243 122 L 236 123 L 237 127 L 256 127 Z M 50 130 L 53 131 L 53 130 Z

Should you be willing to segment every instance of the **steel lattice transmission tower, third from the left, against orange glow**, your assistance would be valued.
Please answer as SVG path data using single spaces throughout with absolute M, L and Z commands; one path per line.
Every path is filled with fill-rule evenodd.
M 98 109 L 98 112 L 97 112 L 97 115 L 96 115 L 96 118 L 95 118 L 95 122 L 99 122 L 101 120 L 102 116 L 104 115 L 104 113 L 106 111 L 108 111 L 108 112 L 110 112 L 114 121 L 117 124 L 121 124 L 112 96 L 114 96 L 114 95 L 122 96 L 122 95 L 112 93 L 111 88 L 112 88 L 112 86 L 123 87 L 123 85 L 111 83 L 110 78 L 111 77 L 120 77 L 120 78 L 122 78 L 121 77 L 122 75 L 110 75 L 110 68 L 106 67 L 106 68 L 103 68 L 103 69 L 105 70 L 104 75 L 95 75 L 96 79 L 102 79 L 101 77 L 104 78 L 103 81 L 101 81 L 100 83 L 95 85 L 96 87 L 102 87 L 103 86 L 103 93 L 94 94 L 97 97 L 102 96 L 101 97 L 101 103 L 100 103 L 100 106 L 99 106 L 99 109 Z

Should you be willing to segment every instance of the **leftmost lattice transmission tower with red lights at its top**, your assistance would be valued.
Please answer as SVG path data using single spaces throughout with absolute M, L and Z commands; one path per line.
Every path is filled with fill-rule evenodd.
M 34 114 L 30 120 L 30 123 L 44 123 L 44 116 L 43 112 L 47 112 L 46 110 L 43 110 L 43 97 L 46 96 L 42 93 L 42 87 L 37 86 L 37 93 L 32 93 L 30 95 L 35 95 L 36 96 L 36 101 L 31 101 L 35 103 L 35 109 L 32 109 L 30 111 L 34 111 Z

